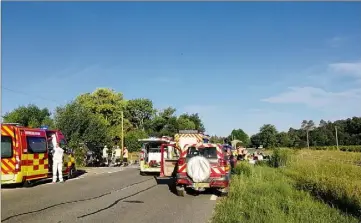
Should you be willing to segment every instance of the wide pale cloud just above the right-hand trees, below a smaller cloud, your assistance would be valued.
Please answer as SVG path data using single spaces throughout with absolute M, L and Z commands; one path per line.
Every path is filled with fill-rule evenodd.
M 303 104 L 312 108 L 329 108 L 337 106 L 361 106 L 361 89 L 340 92 L 326 91 L 315 87 L 289 87 L 279 95 L 262 99 L 274 104 Z

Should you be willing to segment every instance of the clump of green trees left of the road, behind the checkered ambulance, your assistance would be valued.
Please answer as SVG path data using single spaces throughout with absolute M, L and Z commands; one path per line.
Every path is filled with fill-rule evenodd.
M 198 114 L 177 116 L 175 108 L 156 109 L 146 98 L 126 100 L 121 92 L 109 88 L 81 94 L 57 107 L 53 114 L 48 108 L 29 104 L 6 113 L 3 120 L 34 128 L 45 125 L 60 129 L 71 147 L 86 143 L 92 150 L 113 146 L 114 139 L 122 137 L 122 124 L 124 144 L 131 152 L 140 148 L 139 138 L 173 136 L 183 129 L 205 131 Z

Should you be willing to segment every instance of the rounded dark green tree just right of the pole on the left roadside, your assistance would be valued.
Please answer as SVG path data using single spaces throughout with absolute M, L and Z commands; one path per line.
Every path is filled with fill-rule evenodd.
M 149 122 L 154 114 L 153 102 L 149 99 L 139 98 L 127 102 L 126 117 L 137 129 L 144 131 L 144 123 Z

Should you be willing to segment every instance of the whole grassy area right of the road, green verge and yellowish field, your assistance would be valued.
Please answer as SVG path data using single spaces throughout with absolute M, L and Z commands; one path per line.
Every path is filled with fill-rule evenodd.
M 236 167 L 213 222 L 360 222 L 361 153 L 283 149 L 274 157 Z

